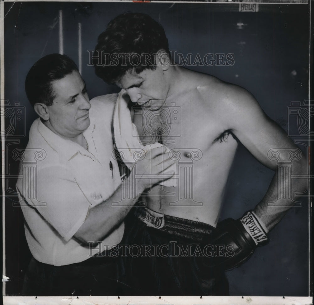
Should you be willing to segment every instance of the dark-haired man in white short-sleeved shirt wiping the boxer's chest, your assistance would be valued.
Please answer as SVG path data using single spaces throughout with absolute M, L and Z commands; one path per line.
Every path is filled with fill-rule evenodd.
M 161 147 L 149 150 L 136 163 L 137 179 L 130 175 L 121 182 L 111 135 L 116 95 L 90 103 L 85 82 L 66 55 L 38 60 L 25 90 L 39 118 L 31 126 L 16 185 L 33 255 L 23 293 L 127 293 L 116 248 L 123 243 L 123 219 L 145 189 L 171 178 L 165 169 L 173 161 Z M 36 171 L 27 171 L 36 149 L 45 157 L 37 160 Z M 145 174 L 157 175 L 138 179 Z M 135 196 L 114 204 L 128 185 L 135 186 Z

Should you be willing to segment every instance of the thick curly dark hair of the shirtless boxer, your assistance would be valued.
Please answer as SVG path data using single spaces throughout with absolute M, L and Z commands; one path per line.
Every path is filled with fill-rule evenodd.
M 155 54 L 161 49 L 170 56 L 164 28 L 147 14 L 126 12 L 98 36 L 92 63 L 97 76 L 114 84 L 127 71 L 155 70 Z

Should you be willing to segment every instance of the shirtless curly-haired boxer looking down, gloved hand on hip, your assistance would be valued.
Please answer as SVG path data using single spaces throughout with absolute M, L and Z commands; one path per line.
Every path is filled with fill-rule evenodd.
M 215 252 L 217 257 L 210 261 L 200 260 L 198 255 L 168 257 L 162 262 L 161 258 L 151 258 L 150 264 L 133 260 L 138 264 L 133 271 L 140 272 L 142 266 L 146 275 L 151 272 L 159 277 L 151 281 L 142 271 L 143 282 L 149 282 L 147 287 L 154 285 L 151 293 L 228 294 L 223 271 L 240 265 L 257 245 L 265 244 L 268 231 L 279 223 L 295 199 L 278 192 L 278 181 L 284 186 L 290 182 L 277 172 L 276 160 L 269 157 L 269 152 L 279 149 L 281 161 L 292 162 L 294 173 L 305 172 L 305 157 L 291 160 L 289 154 L 300 151 L 245 89 L 176 65 L 164 29 L 148 15 L 123 13 L 114 18 L 98 37 L 93 60 L 97 76 L 125 89 L 134 103 L 130 109 L 141 141 L 151 143 L 157 139 L 171 149 L 178 164 L 175 188 L 157 185 L 139 200 L 145 208 L 137 208 L 133 214 L 139 223 L 134 224 L 135 218 L 130 221 L 130 242 L 163 245 L 168 240 L 168 245 L 171 241 L 186 242 L 194 248 L 211 243 L 233 250 L 230 256 L 224 252 L 225 259 Z M 170 120 L 162 114 L 162 110 L 171 112 L 175 107 L 181 111 L 176 118 L 171 114 Z M 140 109 L 142 115 L 138 115 Z M 154 121 L 147 122 L 150 113 L 159 119 L 155 116 Z M 238 141 L 276 173 L 253 211 L 217 225 Z M 305 181 L 294 181 L 290 187 L 292 194 L 301 192 Z M 276 200 L 276 206 L 268 205 Z M 162 219 L 159 227 L 155 225 L 157 219 Z

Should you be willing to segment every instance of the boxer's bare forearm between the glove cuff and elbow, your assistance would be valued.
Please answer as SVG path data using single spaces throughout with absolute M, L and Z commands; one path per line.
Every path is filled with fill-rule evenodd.
M 293 170 L 296 174 L 306 173 L 305 158 L 295 163 Z M 287 171 L 288 168 L 286 168 L 286 171 L 276 171 L 268 191 L 253 210 L 268 230 L 273 229 L 288 210 L 294 206 L 295 202 L 293 200 L 297 200 L 295 194 L 306 189 L 307 179 L 294 179 L 292 183 Z M 288 196 L 288 192 L 291 196 Z

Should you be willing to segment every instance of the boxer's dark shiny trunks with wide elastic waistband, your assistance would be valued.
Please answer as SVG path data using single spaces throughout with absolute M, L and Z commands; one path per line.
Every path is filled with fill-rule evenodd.
M 228 295 L 224 271 L 204 245 L 214 227 L 134 207 L 125 219 L 127 282 L 142 295 Z

